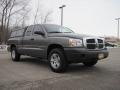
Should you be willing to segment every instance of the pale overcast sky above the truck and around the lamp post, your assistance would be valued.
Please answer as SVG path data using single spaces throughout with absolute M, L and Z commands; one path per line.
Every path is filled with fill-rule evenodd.
M 43 12 L 53 11 L 51 24 L 60 25 L 59 6 L 64 4 L 65 27 L 80 34 L 117 36 L 115 18 L 120 17 L 120 0 L 32 0 L 32 12 L 36 11 L 38 3 Z

